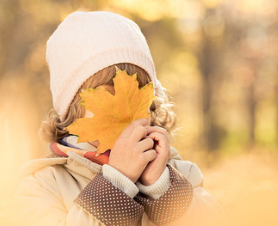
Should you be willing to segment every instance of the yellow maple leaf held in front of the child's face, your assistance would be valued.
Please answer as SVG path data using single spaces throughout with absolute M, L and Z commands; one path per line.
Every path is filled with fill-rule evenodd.
M 138 89 L 137 74 L 127 75 L 116 67 L 115 95 L 104 87 L 85 89 L 80 93 L 81 105 L 94 113 L 67 126 L 69 133 L 78 135 L 78 143 L 98 140 L 98 155 L 113 148 L 122 131 L 134 120 L 148 118 L 149 106 L 156 100 L 153 84 Z

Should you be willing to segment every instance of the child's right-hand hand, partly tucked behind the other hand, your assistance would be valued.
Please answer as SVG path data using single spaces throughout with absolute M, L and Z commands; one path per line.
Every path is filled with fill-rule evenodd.
M 171 155 L 168 133 L 159 126 L 147 126 L 147 137 L 153 139 L 156 159 L 151 161 L 140 176 L 140 183 L 151 185 L 161 176 Z

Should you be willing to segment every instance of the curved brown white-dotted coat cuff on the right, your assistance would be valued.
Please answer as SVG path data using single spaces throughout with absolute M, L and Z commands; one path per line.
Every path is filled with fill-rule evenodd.
M 159 199 L 147 199 L 139 192 L 134 200 L 144 206 L 149 220 L 156 225 L 164 225 L 182 216 L 193 199 L 193 188 L 189 181 L 173 166 L 167 163 L 171 185 Z

